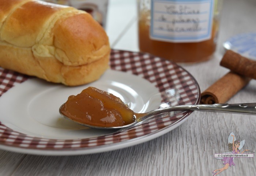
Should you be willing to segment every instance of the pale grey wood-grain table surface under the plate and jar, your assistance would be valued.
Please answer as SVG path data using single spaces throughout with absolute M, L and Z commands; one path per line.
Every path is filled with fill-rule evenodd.
M 110 0 L 106 31 L 113 49 L 139 51 L 136 0 Z M 218 47 L 210 61 L 182 65 L 204 91 L 228 72 L 219 66 L 229 37 L 256 32 L 256 0 L 225 0 Z M 256 102 L 256 81 L 252 80 L 228 103 Z M 131 176 L 212 175 L 223 167 L 214 153 L 228 152 L 231 132 L 243 149 L 256 149 L 256 118 L 250 115 L 193 112 L 181 126 L 143 144 L 111 152 L 80 156 L 36 156 L 0 150 L 1 176 Z M 235 166 L 219 175 L 256 175 L 256 157 L 235 158 Z

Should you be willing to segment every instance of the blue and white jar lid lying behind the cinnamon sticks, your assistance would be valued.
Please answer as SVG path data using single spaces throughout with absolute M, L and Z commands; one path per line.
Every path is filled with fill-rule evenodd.
M 246 58 L 256 60 L 256 33 L 235 35 L 224 42 L 223 47 Z

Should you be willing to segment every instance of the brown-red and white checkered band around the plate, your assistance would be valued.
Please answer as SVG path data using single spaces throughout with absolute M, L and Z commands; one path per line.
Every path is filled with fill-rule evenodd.
M 162 102 L 170 105 L 198 104 L 200 90 L 193 77 L 173 62 L 146 53 L 112 50 L 110 67 L 150 81 L 159 89 Z M 29 76 L 0 68 L 0 96 Z M 47 139 L 33 137 L 10 129 L 0 122 L 0 145 L 37 150 L 76 150 L 115 145 L 136 140 L 172 126 L 191 112 L 155 116 L 147 122 L 100 137 L 85 139 Z M 161 117 L 161 118 L 159 118 Z

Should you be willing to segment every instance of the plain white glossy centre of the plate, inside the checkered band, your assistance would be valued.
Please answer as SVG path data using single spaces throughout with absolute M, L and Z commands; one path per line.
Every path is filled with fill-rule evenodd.
M 147 89 L 142 89 L 141 85 Z M 154 110 L 161 104 L 158 89 L 149 81 L 125 72 L 107 70 L 100 80 L 79 87 L 29 79 L 1 97 L 0 121 L 15 131 L 41 138 L 83 139 L 109 134 L 113 131 L 90 129 L 59 114 L 61 104 L 69 95 L 77 95 L 89 86 L 113 93 L 135 112 Z

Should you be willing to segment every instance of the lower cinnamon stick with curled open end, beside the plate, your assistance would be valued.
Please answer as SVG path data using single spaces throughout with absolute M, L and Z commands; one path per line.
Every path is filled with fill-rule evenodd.
M 229 72 L 207 88 L 201 95 L 202 104 L 225 103 L 251 79 Z

